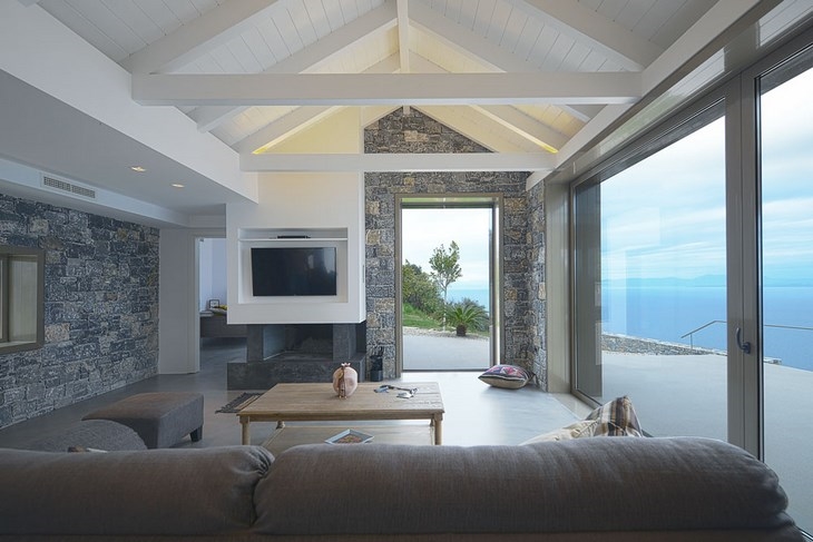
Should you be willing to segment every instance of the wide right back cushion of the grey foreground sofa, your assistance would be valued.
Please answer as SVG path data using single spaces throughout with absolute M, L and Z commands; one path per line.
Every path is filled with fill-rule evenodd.
M 770 469 L 736 446 L 694 437 L 296 446 L 276 459 L 255 501 L 255 531 L 274 534 L 792 525 Z

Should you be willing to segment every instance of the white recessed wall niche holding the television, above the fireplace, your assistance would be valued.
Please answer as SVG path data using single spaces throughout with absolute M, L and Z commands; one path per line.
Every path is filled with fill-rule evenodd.
M 239 230 L 239 303 L 347 300 L 347 229 Z

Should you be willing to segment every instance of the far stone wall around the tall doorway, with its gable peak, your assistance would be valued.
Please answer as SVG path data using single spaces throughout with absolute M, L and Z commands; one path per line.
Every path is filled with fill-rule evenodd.
M 365 152 L 484 152 L 460 134 L 411 109 L 368 127 Z M 383 348 L 384 377 L 395 375 L 395 196 L 493 194 L 502 196 L 505 355 L 499 363 L 531 368 L 530 254 L 525 173 L 368 173 L 368 352 Z M 538 321 L 535 321 L 538 322 Z M 543 324 L 542 324 L 543 325 Z M 539 373 L 538 369 L 533 369 Z M 541 375 L 540 375 L 541 376 Z

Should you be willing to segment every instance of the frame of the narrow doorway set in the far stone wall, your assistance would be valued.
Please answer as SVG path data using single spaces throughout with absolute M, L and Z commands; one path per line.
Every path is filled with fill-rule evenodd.
M 402 259 L 403 208 L 490 208 L 489 297 L 491 337 L 489 366 L 502 358 L 502 195 L 500 194 L 398 194 L 395 195 L 395 375 L 403 373 Z

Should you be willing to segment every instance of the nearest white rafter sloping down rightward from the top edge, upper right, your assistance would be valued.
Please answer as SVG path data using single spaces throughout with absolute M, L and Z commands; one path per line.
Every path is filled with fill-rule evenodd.
M 624 69 L 640 71 L 664 50 L 578 2 L 519 0 L 530 14 L 580 42 L 588 42 Z

